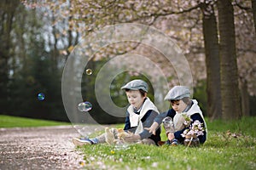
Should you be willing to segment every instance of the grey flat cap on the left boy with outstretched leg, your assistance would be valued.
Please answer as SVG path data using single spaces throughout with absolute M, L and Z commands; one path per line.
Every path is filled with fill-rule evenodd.
M 121 89 L 131 89 L 131 90 L 142 89 L 143 91 L 148 92 L 148 84 L 143 80 L 137 79 L 137 80 L 132 80 L 131 82 L 127 82 L 125 86 L 123 86 Z

